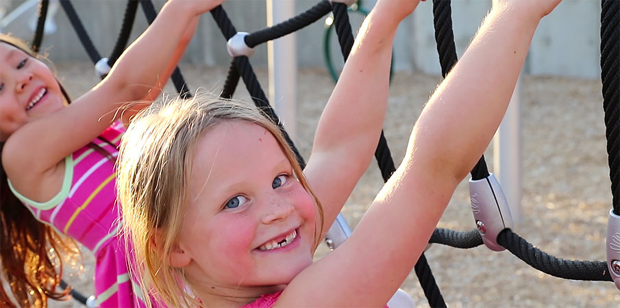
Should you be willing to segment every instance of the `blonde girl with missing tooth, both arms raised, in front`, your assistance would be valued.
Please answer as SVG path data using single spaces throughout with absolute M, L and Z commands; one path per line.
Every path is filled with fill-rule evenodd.
M 367 129 L 384 115 L 373 108 L 385 104 L 389 45 L 417 0 L 377 1 L 303 173 L 252 107 L 196 98 L 144 110 L 123 141 L 118 183 L 146 291 L 175 307 L 384 307 L 491 140 L 536 26 L 558 2 L 493 8 L 351 237 L 314 263 L 371 156 L 360 144 L 376 144 L 380 125 Z

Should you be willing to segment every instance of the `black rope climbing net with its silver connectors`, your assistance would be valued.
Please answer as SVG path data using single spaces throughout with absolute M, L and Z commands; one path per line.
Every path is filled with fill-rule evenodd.
M 149 23 L 152 23 L 157 15 L 153 3 L 151 0 L 139 0 L 139 2 L 142 5 L 142 10 L 145 12 Z M 97 49 L 95 49 L 88 34 L 86 34 L 84 25 L 82 25 L 75 9 L 73 9 L 71 2 L 69 0 L 60 0 L 60 3 L 67 16 L 69 16 L 77 36 L 79 36 L 92 62 L 97 63 L 102 61 L 102 64 L 98 64 L 100 67 L 103 66 L 105 62 L 107 62 L 108 66 L 112 66 L 121 55 L 123 49 L 127 46 L 129 33 L 136 15 L 138 0 L 127 1 L 121 34 L 119 35 L 112 55 L 110 55 L 107 61 L 102 60 Z M 484 243 L 494 251 L 501 251 L 506 248 L 510 253 L 525 261 L 525 263 L 533 268 L 552 276 L 573 280 L 615 281 L 615 285 L 620 289 L 620 111 L 618 110 L 620 106 L 620 68 L 618 64 L 620 59 L 620 1 L 602 0 L 601 3 L 601 76 L 606 137 L 608 140 L 608 160 L 613 195 L 613 208 L 610 210 L 609 214 L 606 244 L 608 261 L 575 261 L 554 257 L 535 248 L 532 244 L 519 237 L 517 233 L 511 231 L 510 226 L 512 225 L 512 218 L 510 218 L 510 211 L 508 210 L 503 194 L 501 194 L 499 183 L 497 183 L 493 175 L 490 175 L 488 172 L 484 156 L 480 158 L 478 164 L 471 170 L 472 179 L 470 182 L 474 183 L 474 188 L 471 188 L 472 209 L 474 210 L 477 229 L 466 232 L 435 229 L 429 243 L 445 244 L 456 248 L 473 248 Z M 41 0 L 37 30 L 32 43 L 34 51 L 38 51 L 42 42 L 43 25 L 45 25 L 48 5 L 49 0 Z M 343 3 L 330 3 L 328 0 L 323 0 L 298 16 L 290 18 L 278 25 L 274 25 L 273 27 L 268 27 L 250 34 L 237 32 L 221 6 L 211 11 L 223 36 L 229 42 L 228 48 L 233 51 L 231 55 L 234 56 L 230 64 L 221 97 L 232 97 L 239 79 L 243 78 L 254 103 L 284 132 L 284 136 L 295 152 L 295 155 L 297 155 L 297 159 L 302 168 L 305 166 L 303 158 L 299 155 L 299 151 L 297 151 L 292 140 L 288 137 L 288 133 L 284 131 L 282 123 L 280 123 L 280 120 L 269 105 L 269 101 L 260 87 L 260 84 L 258 84 L 256 75 L 253 73 L 248 59 L 249 55 L 251 55 L 249 51 L 258 44 L 280 38 L 281 36 L 306 27 L 329 12 L 334 14 L 336 33 L 338 34 L 343 57 L 346 60 L 351 51 L 354 38 L 348 21 L 347 5 Z M 457 62 L 451 21 L 451 1 L 434 0 L 433 15 L 439 62 L 441 64 L 442 75 L 445 77 L 452 66 Z M 237 36 L 237 38 L 231 40 L 234 36 Z M 98 72 L 101 73 L 103 70 L 98 70 Z M 102 77 L 105 77 L 105 75 Z M 182 97 L 191 96 L 178 67 L 175 69 L 171 79 L 173 79 L 175 88 Z M 375 158 L 380 166 L 382 177 L 387 181 L 390 175 L 395 171 L 395 166 L 383 131 L 377 150 L 375 151 Z M 484 181 L 482 181 L 483 179 Z M 477 183 L 482 183 L 483 188 L 476 188 L 476 185 L 480 185 Z M 484 192 L 481 193 L 481 191 Z M 484 198 L 481 197 L 483 194 Z M 482 202 L 482 199 L 484 199 L 484 202 Z M 493 209 L 493 211 L 489 212 L 487 208 Z M 497 217 L 499 217 L 499 220 Z M 336 221 L 338 224 L 346 224 L 342 217 L 338 217 Z M 348 229 L 348 226 L 344 229 Z M 330 247 L 334 247 L 339 244 L 336 243 L 336 240 L 338 239 L 327 239 L 327 242 Z M 414 270 L 430 305 L 432 307 L 445 307 L 445 301 L 435 283 L 424 255 L 420 256 Z M 612 274 L 610 274 L 610 272 Z M 61 283 L 61 286 L 64 288 L 69 287 L 64 281 Z M 71 290 L 71 294 L 76 300 L 86 305 L 88 298 L 82 296 L 82 294 L 79 294 L 79 292 L 75 290 Z

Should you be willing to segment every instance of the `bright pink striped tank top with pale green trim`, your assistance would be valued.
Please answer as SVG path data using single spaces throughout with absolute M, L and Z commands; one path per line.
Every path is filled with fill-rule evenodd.
M 124 132 L 125 128 L 117 122 L 101 137 L 118 146 Z M 93 142 L 113 157 L 119 154 L 116 147 L 106 142 Z M 11 190 L 38 220 L 69 235 L 95 255 L 97 307 L 142 307 L 140 288 L 129 279 L 125 241 L 119 237 L 122 222 L 116 203 L 114 162 L 84 146 L 66 157 L 64 163 L 62 188 L 50 201 L 37 203 L 12 186 Z

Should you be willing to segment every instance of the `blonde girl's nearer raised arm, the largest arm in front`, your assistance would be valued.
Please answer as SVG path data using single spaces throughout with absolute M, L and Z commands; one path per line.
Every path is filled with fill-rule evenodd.
M 425 106 L 404 162 L 351 238 L 301 272 L 282 294 L 282 306 L 385 305 L 416 263 L 456 185 L 491 141 L 534 30 L 558 1 L 504 1 L 493 8 Z

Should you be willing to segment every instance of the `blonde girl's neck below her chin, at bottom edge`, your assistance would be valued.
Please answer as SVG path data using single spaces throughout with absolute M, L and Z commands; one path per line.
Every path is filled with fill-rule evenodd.
M 242 307 L 252 303 L 262 294 L 269 294 L 284 290 L 285 285 L 271 285 L 265 287 L 221 287 L 201 286 L 193 287 L 193 292 L 203 303 L 202 307 Z

